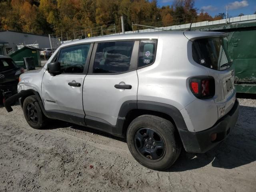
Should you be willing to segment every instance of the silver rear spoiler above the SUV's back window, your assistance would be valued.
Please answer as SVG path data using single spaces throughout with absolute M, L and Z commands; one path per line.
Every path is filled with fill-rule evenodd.
M 227 37 L 227 33 L 222 32 L 212 32 L 212 31 L 184 31 L 184 36 L 190 41 L 202 38 L 214 38 L 214 37 Z

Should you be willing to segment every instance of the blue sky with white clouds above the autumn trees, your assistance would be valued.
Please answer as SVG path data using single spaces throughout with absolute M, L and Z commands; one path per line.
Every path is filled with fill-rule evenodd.
M 172 5 L 173 1 L 158 0 L 158 6 Z M 256 0 L 195 0 L 195 6 L 198 8 L 198 12 L 204 9 L 211 16 L 215 16 L 218 13 L 226 14 L 227 5 L 228 15 L 232 17 L 236 17 L 240 13 L 250 15 L 256 11 Z

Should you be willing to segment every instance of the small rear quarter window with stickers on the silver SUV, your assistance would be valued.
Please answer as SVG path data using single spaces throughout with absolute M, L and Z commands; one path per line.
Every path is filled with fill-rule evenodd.
M 138 68 L 151 65 L 155 60 L 156 40 L 141 40 Z

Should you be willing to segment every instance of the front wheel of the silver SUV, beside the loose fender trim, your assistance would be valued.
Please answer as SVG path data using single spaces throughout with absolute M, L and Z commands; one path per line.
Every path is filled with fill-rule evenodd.
M 22 108 L 25 119 L 32 128 L 45 128 L 48 118 L 44 116 L 36 96 L 32 95 L 25 98 Z

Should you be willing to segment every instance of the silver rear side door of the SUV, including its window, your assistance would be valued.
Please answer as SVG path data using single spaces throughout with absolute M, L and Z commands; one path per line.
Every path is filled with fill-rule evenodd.
M 96 121 L 115 126 L 119 110 L 126 101 L 137 100 L 139 41 L 99 42 L 94 44 L 83 101 L 86 124 Z M 111 130 L 106 130 L 111 131 Z

